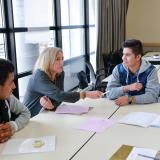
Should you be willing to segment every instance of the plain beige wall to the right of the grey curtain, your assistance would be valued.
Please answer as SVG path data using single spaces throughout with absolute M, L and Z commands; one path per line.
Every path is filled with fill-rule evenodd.
M 130 0 L 126 38 L 160 46 L 160 0 Z M 156 46 L 156 45 L 155 45 Z

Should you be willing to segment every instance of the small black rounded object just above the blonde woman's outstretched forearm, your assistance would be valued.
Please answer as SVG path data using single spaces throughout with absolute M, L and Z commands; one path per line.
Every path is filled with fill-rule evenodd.
M 84 88 L 88 87 L 87 75 L 84 71 L 78 72 L 77 77 L 79 80 L 79 88 L 80 89 L 84 89 Z

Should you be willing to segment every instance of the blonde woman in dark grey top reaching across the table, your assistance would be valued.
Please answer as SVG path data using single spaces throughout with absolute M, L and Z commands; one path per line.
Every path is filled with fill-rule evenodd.
M 65 92 L 63 63 L 63 52 L 60 48 L 48 47 L 39 55 L 23 101 L 32 117 L 42 107 L 55 110 L 62 101 L 76 102 L 86 97 L 102 96 L 100 91 Z

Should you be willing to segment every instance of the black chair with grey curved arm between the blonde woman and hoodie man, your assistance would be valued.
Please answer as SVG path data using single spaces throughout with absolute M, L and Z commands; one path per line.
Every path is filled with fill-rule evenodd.
M 105 69 L 100 68 L 97 69 L 97 72 L 95 73 L 93 66 L 90 62 L 86 62 L 86 66 L 88 67 L 90 71 L 90 82 L 93 84 L 93 90 L 100 90 L 102 92 L 105 92 L 105 89 L 107 87 L 107 82 L 102 82 L 102 77 L 105 78 Z

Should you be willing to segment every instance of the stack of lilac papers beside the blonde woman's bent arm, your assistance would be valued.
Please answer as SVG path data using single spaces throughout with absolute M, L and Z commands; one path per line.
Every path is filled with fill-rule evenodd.
M 55 113 L 58 113 L 58 114 L 83 114 L 83 113 L 87 113 L 88 111 L 89 111 L 89 107 L 87 107 L 87 106 L 62 104 L 56 109 Z

